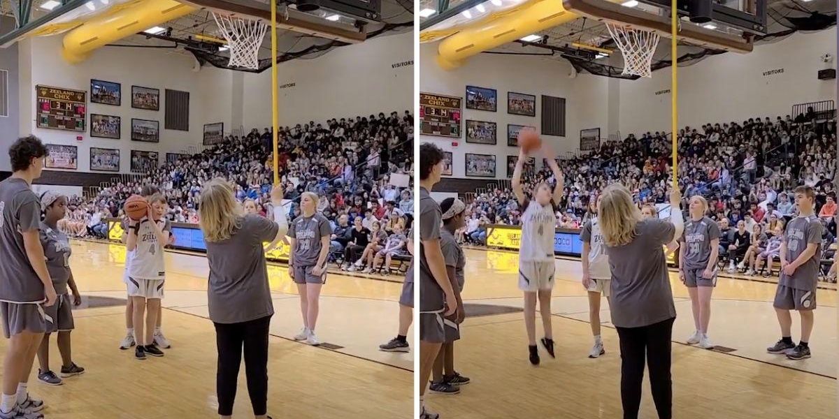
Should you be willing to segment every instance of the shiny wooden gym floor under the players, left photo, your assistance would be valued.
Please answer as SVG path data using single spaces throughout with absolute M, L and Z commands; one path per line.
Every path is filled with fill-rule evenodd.
M 142 362 L 119 350 L 125 334 L 125 247 L 73 241 L 70 266 L 85 301 L 74 312 L 74 360 L 86 373 L 51 387 L 34 375 L 29 391 L 50 419 L 216 417 L 215 332 L 207 318 L 206 257 L 167 252 L 163 330 L 172 348 Z M 413 348 L 378 351 L 393 338 L 400 277 L 389 281 L 330 275 L 320 303 L 318 337 L 335 349 L 290 339 L 301 327 L 296 287 L 287 269 L 269 266 L 275 314 L 268 361 L 268 414 L 274 418 L 392 418 L 413 415 Z M 96 307 L 91 307 L 96 306 Z M 413 329 L 412 329 L 413 330 Z M 7 341 L 0 339 L 0 351 Z M 51 339 L 51 368 L 60 356 Z M 413 342 L 411 342 L 413 347 Z M 253 417 L 240 373 L 235 418 Z

